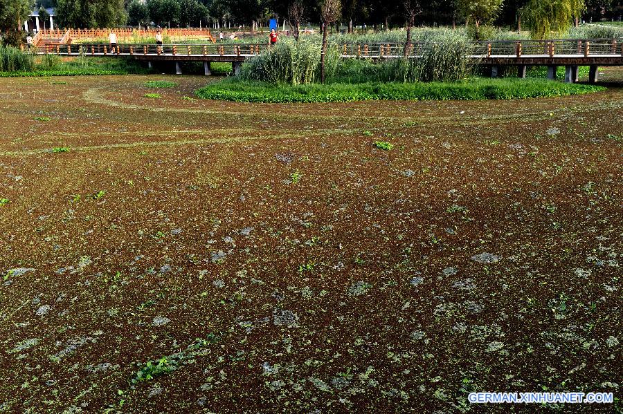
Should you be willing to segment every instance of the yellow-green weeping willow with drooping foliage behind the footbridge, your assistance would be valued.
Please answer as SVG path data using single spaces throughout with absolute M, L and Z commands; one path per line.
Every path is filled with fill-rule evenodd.
M 530 0 L 521 16 L 534 39 L 545 39 L 550 32 L 568 30 L 584 10 L 584 0 Z

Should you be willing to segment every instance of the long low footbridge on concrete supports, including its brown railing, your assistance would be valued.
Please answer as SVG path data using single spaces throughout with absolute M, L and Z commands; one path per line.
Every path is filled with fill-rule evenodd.
M 404 44 L 342 44 L 338 46 L 345 59 L 397 59 L 404 57 Z M 414 42 L 410 59 L 418 59 L 438 47 L 433 43 Z M 179 63 L 205 62 L 210 75 L 210 62 L 231 62 L 235 73 L 249 57 L 269 48 L 267 44 L 56 44 L 38 48 L 40 55 L 82 55 L 132 57 L 138 60 Z M 623 66 L 623 38 L 620 39 L 557 39 L 522 41 L 476 41 L 469 57 L 477 64 L 488 66 L 496 77 L 502 66 L 516 66 L 518 76 L 525 77 L 527 66 L 548 66 L 548 77 L 555 77 L 557 66 L 566 67 L 566 82 L 577 82 L 578 66 L 590 66 L 590 82 L 597 81 L 599 66 Z

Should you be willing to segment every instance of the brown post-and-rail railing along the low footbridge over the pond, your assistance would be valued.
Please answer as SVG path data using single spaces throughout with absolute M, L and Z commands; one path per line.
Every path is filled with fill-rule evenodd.
M 528 57 L 623 57 L 621 39 L 561 39 L 548 41 L 478 41 L 470 44 L 467 53 L 476 59 L 528 58 Z M 408 50 L 411 57 L 419 57 L 431 50 L 433 44 L 414 42 Z M 39 53 L 58 55 L 166 55 L 166 56 L 224 56 L 250 57 L 258 55 L 269 46 L 254 44 L 118 44 L 111 50 L 107 44 L 49 45 L 40 47 Z M 342 44 L 338 46 L 342 57 L 390 59 L 404 55 L 404 44 Z

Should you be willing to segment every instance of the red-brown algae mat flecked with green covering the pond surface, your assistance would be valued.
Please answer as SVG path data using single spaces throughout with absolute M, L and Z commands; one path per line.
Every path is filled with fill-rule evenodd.
M 206 82 L 0 79 L 0 412 L 622 409 L 467 395 L 621 396 L 623 88 L 267 105 Z

